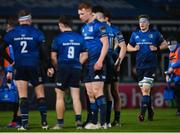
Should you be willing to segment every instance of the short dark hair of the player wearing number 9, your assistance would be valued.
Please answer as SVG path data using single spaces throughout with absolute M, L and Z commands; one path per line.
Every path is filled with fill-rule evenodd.
M 72 27 L 73 22 L 70 16 L 60 16 L 59 23 L 64 24 L 66 27 Z

